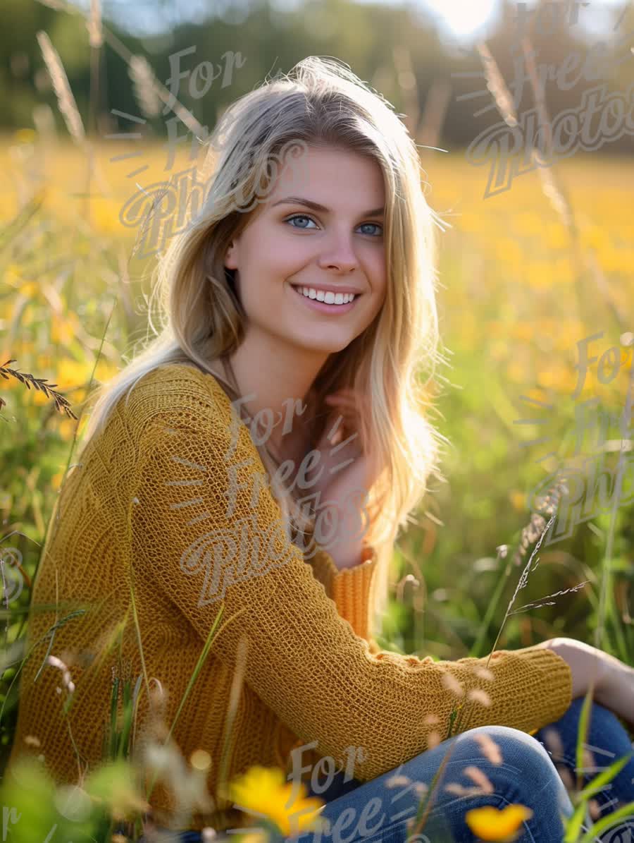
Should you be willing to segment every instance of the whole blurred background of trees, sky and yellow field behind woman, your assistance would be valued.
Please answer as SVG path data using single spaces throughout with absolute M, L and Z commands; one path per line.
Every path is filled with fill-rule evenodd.
M 348 63 L 395 106 L 419 145 L 428 201 L 448 223 L 438 299 L 446 362 L 434 382 L 446 482 L 397 541 L 381 645 L 462 658 L 564 635 L 632 664 L 634 467 L 619 422 L 634 341 L 631 3 L 3 0 L 2 8 L 6 652 L 24 636 L 29 586 L 91 384 L 109 379 L 147 336 L 149 277 L 165 241 L 143 239 L 144 191 L 154 196 L 200 164 L 197 138 L 226 105 L 319 55 Z M 192 75 L 168 81 L 178 54 L 190 74 L 206 62 L 196 87 Z M 500 162 L 474 163 L 482 132 L 521 124 L 536 104 L 554 124 L 601 85 L 605 101 L 629 104 L 629 131 L 623 108 L 620 117 L 605 106 L 593 118 L 594 148 L 537 166 L 526 141 L 520 153 L 532 168 L 487 189 Z M 601 120 L 610 137 L 601 137 Z M 586 337 L 597 359 L 575 395 Z M 8 368 L 56 384 L 77 419 Z M 614 506 L 600 506 L 590 480 L 579 497 L 586 457 L 611 471 L 603 494 Z M 585 513 L 567 506 L 570 529 L 543 542 L 518 591 L 540 513 L 550 517 L 535 489 L 546 490 L 562 466 L 577 472 Z M 6 752 L 18 668 L 10 656 L 3 666 Z

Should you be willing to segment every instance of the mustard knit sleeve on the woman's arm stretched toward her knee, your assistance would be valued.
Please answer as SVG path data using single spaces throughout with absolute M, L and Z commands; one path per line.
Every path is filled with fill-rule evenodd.
M 189 396 L 185 396 L 186 398 Z M 162 416 L 162 417 L 161 417 Z M 153 577 L 211 652 L 233 668 L 243 636 L 244 679 L 285 725 L 336 760 L 351 744 L 368 781 L 424 751 L 429 733 L 502 724 L 529 732 L 571 700 L 567 663 L 524 647 L 434 662 L 370 652 L 288 539 L 266 471 L 242 422 L 212 395 L 173 402 L 144 429 L 131 507 L 135 566 Z M 339 599 L 349 599 L 346 577 Z M 485 691 L 471 696 L 473 690 Z M 434 722 L 429 721 L 434 717 Z

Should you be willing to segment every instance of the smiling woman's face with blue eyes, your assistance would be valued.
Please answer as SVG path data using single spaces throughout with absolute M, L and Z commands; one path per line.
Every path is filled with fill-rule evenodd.
M 248 330 L 327 354 L 359 336 L 386 295 L 383 213 L 377 212 L 384 204 L 376 161 L 307 147 L 226 252 Z M 333 303 L 327 291 L 338 294 Z M 352 303 L 336 303 L 349 292 Z

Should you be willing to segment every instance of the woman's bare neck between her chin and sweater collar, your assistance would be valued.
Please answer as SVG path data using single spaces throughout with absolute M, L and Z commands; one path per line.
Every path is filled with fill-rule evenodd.
M 300 416 L 294 409 L 295 402 L 300 399 L 301 406 L 306 405 L 306 395 L 328 357 L 328 352 L 311 352 L 281 341 L 276 343 L 271 336 L 256 330 L 247 330 L 247 336 L 232 354 L 233 373 L 240 395 L 246 399 L 242 406 L 249 416 L 254 417 L 261 410 L 272 411 L 272 416 L 270 413 L 260 416 L 263 431 L 268 430 L 267 417 L 280 420 L 267 439 L 274 454 L 283 458 L 285 454 L 295 453 L 298 441 L 303 441 L 306 412 Z M 284 434 L 284 428 L 289 432 Z

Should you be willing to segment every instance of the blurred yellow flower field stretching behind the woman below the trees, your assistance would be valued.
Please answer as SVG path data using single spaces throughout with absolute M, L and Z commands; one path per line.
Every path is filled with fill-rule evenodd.
M 167 244 L 169 230 L 182 223 L 178 208 L 171 217 L 166 211 L 167 233 L 150 231 L 157 237 L 143 240 L 141 217 L 149 209 L 143 196 L 156 198 L 161 185 L 183 180 L 202 165 L 204 149 L 195 143 L 196 149 L 198 157 L 191 158 L 189 143 L 179 145 L 170 164 L 168 148 L 160 142 L 101 139 L 91 144 L 91 166 L 87 151 L 69 141 L 47 146 L 26 128 L 3 137 L 0 164 L 13 179 L 0 188 L 0 362 L 13 359 L 21 372 L 57 384 L 76 411 L 87 398 L 91 377 L 107 380 L 125 365 L 147 333 L 157 251 Z M 492 556 L 497 545 L 519 535 L 530 513 L 531 490 L 557 466 L 558 458 L 546 458 L 547 452 L 558 450 L 562 459 L 570 454 L 570 429 L 580 403 L 599 400 L 612 413 L 624 404 L 634 353 L 627 345 L 634 341 L 634 215 L 629 210 L 634 160 L 578 153 L 555 164 L 550 175 L 565 192 L 569 219 L 561 202 L 557 210 L 546 195 L 536 170 L 516 176 L 509 190 L 484 198 L 487 172 L 468 164 L 464 153 L 423 148 L 421 161 L 429 204 L 450 224 L 439 232 L 446 365 L 436 376 L 436 423 L 451 443 L 442 470 L 450 483 L 429 498 L 419 526 L 403 535 L 395 553 L 401 575 L 407 572 L 406 557 L 423 564 L 429 616 L 424 624 L 412 617 L 402 618 L 400 626 L 388 620 L 386 634 L 392 646 L 429 644 L 440 657 L 451 658 L 464 654 L 466 642 L 475 637 L 496 576 L 486 566 L 478 573 L 472 562 Z M 605 355 L 602 379 L 595 362 L 573 399 L 578 343 L 601 332 L 588 347 L 591 356 Z M 614 346 L 611 353 L 620 365 L 610 368 Z M 19 419 L 15 435 L 26 437 L 31 428 L 51 435 L 40 511 L 34 515 L 24 503 L 24 516 L 41 524 L 60 485 L 77 423 L 51 411 L 50 397 L 24 389 L 16 379 L 3 380 L 2 395 L 5 416 Z M 541 404 L 530 406 L 527 400 Z M 516 423 L 522 418 L 537 420 L 540 427 Z M 79 421 L 80 435 L 84 421 Z M 617 436 L 612 429 L 610 439 Z M 27 459 L 35 459 L 30 450 Z M 22 464 L 16 476 L 27 477 L 32 469 Z M 432 513 L 436 521 L 427 517 Z M 600 523 L 604 516 L 598 518 Z M 589 544 L 588 528 L 579 529 L 585 531 L 585 558 L 565 571 L 557 551 L 567 545 L 552 545 L 549 568 L 546 548 L 545 579 L 550 574 L 567 583 L 569 577 L 572 585 L 581 580 L 583 565 L 598 561 L 600 543 Z M 450 582 L 449 564 L 459 572 Z M 539 593 L 549 584 L 542 582 Z M 436 600 L 434 594 L 442 596 Z M 415 597 L 406 593 L 406 601 Z M 461 619 L 449 614 L 450 604 L 461 604 Z M 510 619 L 509 641 L 528 644 L 552 634 L 547 611 Z M 586 620 L 587 614 L 578 619 L 580 630 Z M 453 636 L 447 635 L 447 625 Z

